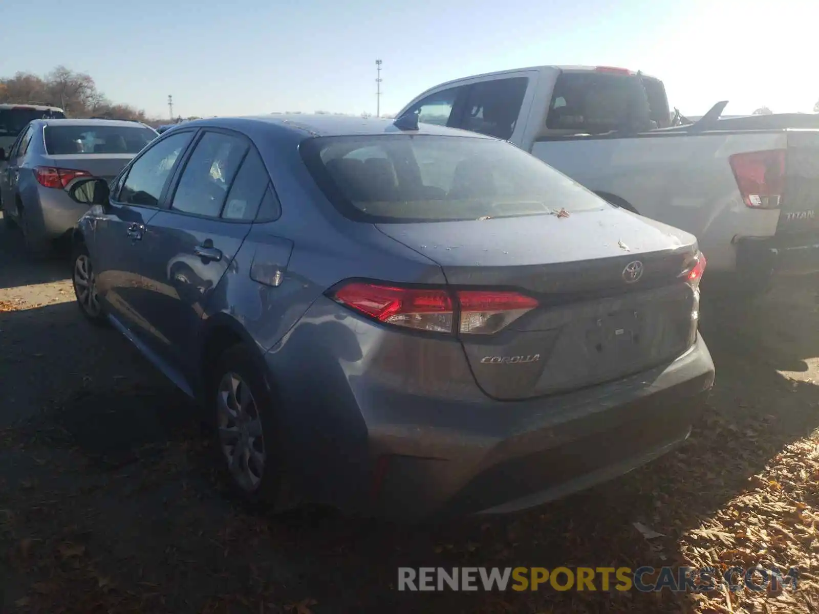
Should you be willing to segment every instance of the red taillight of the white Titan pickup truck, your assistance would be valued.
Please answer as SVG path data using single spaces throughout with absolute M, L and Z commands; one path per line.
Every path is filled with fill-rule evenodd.
M 785 191 L 785 150 L 748 151 L 729 158 L 742 200 L 752 209 L 777 209 Z

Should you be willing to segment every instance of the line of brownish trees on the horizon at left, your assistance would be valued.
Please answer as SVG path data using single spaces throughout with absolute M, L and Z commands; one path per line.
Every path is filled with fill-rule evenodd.
M 67 117 L 141 121 L 153 126 L 168 123 L 149 117 L 142 109 L 111 102 L 97 89 L 90 74 L 63 65 L 43 76 L 17 72 L 12 77 L 0 77 L 0 102 L 59 106 Z

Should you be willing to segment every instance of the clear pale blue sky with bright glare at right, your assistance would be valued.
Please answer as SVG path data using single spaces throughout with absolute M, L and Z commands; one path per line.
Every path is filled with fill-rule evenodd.
M 819 100 L 817 0 L 0 0 L 0 75 L 57 64 L 149 115 L 382 112 L 469 74 L 618 65 L 701 115 Z

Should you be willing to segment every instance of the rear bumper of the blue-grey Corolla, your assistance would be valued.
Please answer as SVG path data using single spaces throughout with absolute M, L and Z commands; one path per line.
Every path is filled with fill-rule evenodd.
M 286 354 L 266 354 L 273 373 Z M 297 377 L 276 378 L 294 407 L 285 432 L 296 489 L 348 511 L 418 520 L 529 508 L 665 454 L 697 421 L 714 367 L 698 337 L 647 372 L 517 402 L 444 399 L 360 372 L 310 390 L 291 387 Z

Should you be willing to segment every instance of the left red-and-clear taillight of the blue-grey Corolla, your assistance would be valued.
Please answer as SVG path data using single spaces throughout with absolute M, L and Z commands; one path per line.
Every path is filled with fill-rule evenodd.
M 482 335 L 500 331 L 538 305 L 531 296 L 513 291 L 450 291 L 367 282 L 346 283 L 329 296 L 385 324 Z

